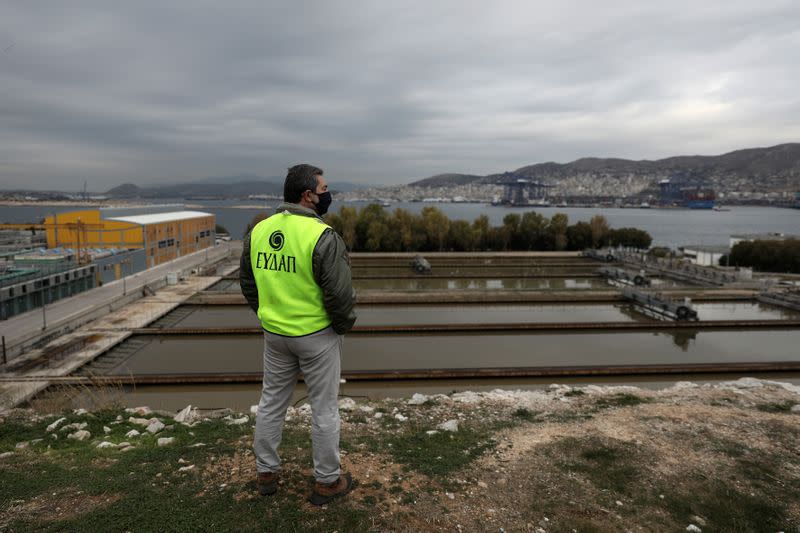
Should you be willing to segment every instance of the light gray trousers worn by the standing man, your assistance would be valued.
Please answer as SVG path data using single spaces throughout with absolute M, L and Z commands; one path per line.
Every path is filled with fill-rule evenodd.
M 311 403 L 314 477 L 321 483 L 339 478 L 339 379 L 342 336 L 328 327 L 303 337 L 264 333 L 264 382 L 256 413 L 253 449 L 258 472 L 278 472 L 278 446 L 286 409 L 303 372 Z

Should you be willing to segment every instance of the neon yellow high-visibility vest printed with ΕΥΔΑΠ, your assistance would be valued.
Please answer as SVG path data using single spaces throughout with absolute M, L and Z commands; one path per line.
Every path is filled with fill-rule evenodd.
M 330 326 L 312 256 L 330 226 L 316 217 L 276 213 L 250 234 L 250 263 L 258 288 L 258 319 L 270 333 L 300 337 Z

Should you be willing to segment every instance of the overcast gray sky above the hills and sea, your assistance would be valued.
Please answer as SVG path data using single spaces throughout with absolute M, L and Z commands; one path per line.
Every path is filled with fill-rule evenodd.
M 395 184 L 793 142 L 798 21 L 796 0 L 4 2 L 0 187 L 297 162 Z

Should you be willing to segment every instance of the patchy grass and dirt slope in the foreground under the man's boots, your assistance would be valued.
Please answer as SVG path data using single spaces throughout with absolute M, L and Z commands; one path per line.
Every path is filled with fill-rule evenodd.
M 250 424 L 176 424 L 158 435 L 174 436 L 176 442 L 157 447 L 156 436 L 123 437 L 131 428 L 144 431 L 127 421 L 114 424 L 120 414 L 127 420 L 121 410 L 66 415 L 67 423 L 89 423 L 92 439 L 86 442 L 68 440 L 58 431 L 56 440 L 47 436 L 45 427 L 56 417 L 7 419 L 0 424 L 0 452 L 14 450 L 20 441 L 45 440 L 0 460 L 0 530 L 384 531 L 452 529 L 462 523 L 467 530 L 495 531 L 495 524 L 507 531 L 539 524 L 547 531 L 604 531 L 631 524 L 683 530 L 699 515 L 706 523 L 703 531 L 800 531 L 792 515 L 800 494 L 800 416 L 772 404 L 746 411 L 725 402 L 711 404 L 721 423 L 731 419 L 726 410 L 736 409 L 731 413 L 771 439 L 771 451 L 764 453 L 746 439 L 723 436 L 713 425 L 689 431 L 681 424 L 668 426 L 664 416 L 635 411 L 659 407 L 650 398 L 576 394 L 571 401 L 574 407 L 544 412 L 385 401 L 378 407 L 385 412 L 379 420 L 358 410 L 343 413 L 344 463 L 355 470 L 360 486 L 325 509 L 304 501 L 311 484 L 310 439 L 308 422 L 297 417 L 287 423 L 283 481 L 272 498 L 255 495 Z M 395 407 L 409 420 L 396 420 Z M 668 427 L 665 438 L 687 444 L 707 461 L 704 467 L 664 474 L 657 465 L 668 458 L 659 455 L 656 441 L 646 445 L 589 429 L 567 435 L 576 426 L 626 410 L 653 426 Z M 461 421 L 459 432 L 426 434 L 452 417 Z M 113 430 L 108 436 L 104 425 Z M 508 435 L 536 436 L 545 430 L 560 436 L 502 462 L 507 460 L 501 452 L 512 447 Z M 136 449 L 97 449 L 103 439 L 129 440 Z M 198 442 L 205 446 L 189 447 Z M 179 473 L 183 464 L 196 467 Z

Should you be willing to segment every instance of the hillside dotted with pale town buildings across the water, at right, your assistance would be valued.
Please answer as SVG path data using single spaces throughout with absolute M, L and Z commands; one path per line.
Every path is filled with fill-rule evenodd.
M 439 174 L 409 186 L 497 184 L 525 177 L 551 184 L 556 188 L 554 192 L 562 194 L 618 195 L 655 190 L 659 180 L 674 174 L 680 174 L 686 184 L 708 185 L 720 192 L 800 190 L 800 143 L 655 161 L 585 157 L 570 163 L 537 163 L 488 176 Z

